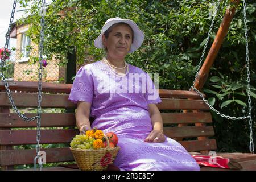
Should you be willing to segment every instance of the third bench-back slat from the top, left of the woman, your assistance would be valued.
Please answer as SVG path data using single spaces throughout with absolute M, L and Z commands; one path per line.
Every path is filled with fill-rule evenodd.
M 26 113 L 27 117 L 34 117 L 37 113 Z M 1 127 L 36 127 L 36 121 L 26 122 L 16 113 L 0 113 Z M 42 113 L 41 127 L 76 126 L 75 113 Z

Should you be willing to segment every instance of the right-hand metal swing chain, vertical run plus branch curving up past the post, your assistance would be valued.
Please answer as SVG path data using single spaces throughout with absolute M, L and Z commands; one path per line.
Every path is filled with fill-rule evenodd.
M 247 116 L 243 116 L 243 117 L 230 117 L 229 115 L 222 114 L 222 113 L 220 113 L 220 111 L 214 109 L 214 107 L 212 105 L 210 105 L 207 100 L 205 100 L 203 94 L 195 88 L 196 78 L 197 78 L 197 76 L 199 74 L 199 71 L 200 71 L 201 63 L 203 61 L 203 57 L 204 57 L 204 54 L 205 54 L 205 49 L 206 49 L 207 44 L 205 44 L 202 56 L 200 58 L 200 63 L 198 65 L 198 68 L 197 68 L 197 71 L 196 71 L 195 80 L 193 81 L 193 85 L 191 86 L 191 88 L 189 90 L 191 90 L 191 89 L 195 90 L 195 92 L 198 93 L 200 95 L 200 97 L 204 100 L 205 104 L 207 104 L 210 109 L 212 109 L 216 114 L 220 115 L 221 117 L 224 117 L 226 119 L 232 119 L 232 120 L 236 120 L 236 119 L 241 120 L 241 119 L 249 118 L 249 127 L 250 127 L 250 145 L 249 145 L 249 148 L 250 148 L 251 154 L 254 154 L 253 123 L 252 123 L 252 119 L 251 119 L 251 97 L 250 97 L 250 88 L 251 88 L 251 86 L 250 86 L 250 69 L 249 69 L 250 68 L 250 63 L 249 63 L 249 48 L 248 48 L 248 34 L 247 34 L 248 28 L 247 28 L 246 2 L 245 2 L 245 0 L 243 1 L 243 18 L 244 18 L 243 21 L 245 23 L 246 68 L 247 68 L 247 82 L 248 82 L 248 84 L 247 84 L 247 89 L 248 89 L 247 95 L 248 95 L 248 104 L 249 104 L 249 107 L 248 107 L 249 114 Z M 212 26 L 212 24 L 211 24 L 211 26 Z M 211 28 L 210 28 L 210 30 L 211 30 Z M 209 32 L 208 32 L 207 43 L 208 43 L 208 40 L 209 40 Z

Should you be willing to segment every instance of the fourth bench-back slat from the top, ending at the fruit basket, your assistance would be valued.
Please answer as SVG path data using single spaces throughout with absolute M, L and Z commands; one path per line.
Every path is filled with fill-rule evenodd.
M 40 144 L 68 143 L 75 135 L 76 129 L 41 130 Z M 0 145 L 36 144 L 36 130 L 0 130 Z

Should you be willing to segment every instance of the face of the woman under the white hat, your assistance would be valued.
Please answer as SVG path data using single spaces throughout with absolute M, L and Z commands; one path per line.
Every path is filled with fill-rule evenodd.
M 124 58 L 130 51 L 132 43 L 132 30 L 125 24 L 117 25 L 109 32 L 108 38 L 102 36 L 104 46 L 110 57 Z

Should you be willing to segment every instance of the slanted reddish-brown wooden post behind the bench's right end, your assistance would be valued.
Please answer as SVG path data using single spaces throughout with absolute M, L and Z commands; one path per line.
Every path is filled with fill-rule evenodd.
M 218 51 L 220 50 L 221 44 L 223 43 L 223 40 L 228 32 L 231 20 L 236 12 L 237 5 L 239 4 L 240 0 L 231 0 L 232 6 L 231 9 L 227 9 L 224 18 L 222 19 L 222 23 L 220 25 L 220 28 L 218 28 L 217 35 L 212 43 L 212 47 L 210 47 L 210 50 L 208 52 L 208 55 L 206 59 L 204 60 L 204 64 L 202 65 L 199 74 L 196 77 L 195 82 L 195 88 L 197 90 L 201 90 L 205 84 L 205 81 L 207 81 L 210 67 L 212 67 L 212 64 L 214 63 L 214 60 L 216 59 L 216 56 L 218 55 Z M 183 111 L 184 113 L 187 113 L 187 110 Z M 195 111 L 193 111 L 195 112 Z M 180 126 L 187 126 L 186 124 L 179 124 Z M 196 126 L 205 126 L 205 124 L 197 123 Z M 198 140 L 206 140 L 208 137 L 198 137 Z M 183 138 L 175 138 L 175 140 L 181 141 Z M 207 154 L 207 151 L 201 151 L 202 154 Z

